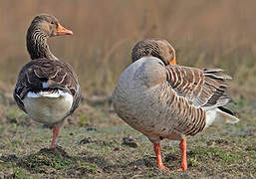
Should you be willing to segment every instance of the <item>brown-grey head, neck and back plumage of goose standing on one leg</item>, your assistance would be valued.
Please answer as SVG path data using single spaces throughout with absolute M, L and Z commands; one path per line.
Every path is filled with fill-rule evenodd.
M 74 100 L 68 114 L 79 105 L 81 89 L 76 73 L 69 64 L 56 58 L 47 44 L 47 38 L 57 35 L 58 26 L 59 22 L 54 16 L 43 14 L 36 16 L 28 29 L 27 50 L 33 61 L 20 71 L 13 92 L 18 106 L 25 112 L 23 99 L 29 91 L 62 89 L 71 93 Z M 43 88 L 43 83 L 47 83 L 47 89 Z

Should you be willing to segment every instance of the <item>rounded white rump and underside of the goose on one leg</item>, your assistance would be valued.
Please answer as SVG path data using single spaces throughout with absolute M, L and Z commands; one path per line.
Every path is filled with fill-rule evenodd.
M 73 96 L 63 90 L 53 93 L 48 91 L 28 92 L 23 103 L 32 119 L 51 124 L 61 121 L 69 113 Z

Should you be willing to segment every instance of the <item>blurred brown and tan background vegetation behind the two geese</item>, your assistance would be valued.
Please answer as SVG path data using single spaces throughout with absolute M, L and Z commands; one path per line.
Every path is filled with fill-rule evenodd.
M 162 38 L 179 65 L 218 67 L 233 77 L 235 97 L 256 100 L 256 1 L 0 0 L 0 91 L 11 95 L 30 61 L 25 36 L 40 13 L 55 15 L 74 36 L 49 39 L 51 51 L 78 73 L 86 98 L 110 96 L 134 44 Z

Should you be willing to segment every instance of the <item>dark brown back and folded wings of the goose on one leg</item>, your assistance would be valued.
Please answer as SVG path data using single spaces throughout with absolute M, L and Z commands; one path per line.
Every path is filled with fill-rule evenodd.
M 29 91 L 55 91 L 62 89 L 73 95 L 73 112 L 80 102 L 81 89 L 72 67 L 61 61 L 38 59 L 26 64 L 18 76 L 13 96 L 18 106 L 26 112 L 23 98 Z

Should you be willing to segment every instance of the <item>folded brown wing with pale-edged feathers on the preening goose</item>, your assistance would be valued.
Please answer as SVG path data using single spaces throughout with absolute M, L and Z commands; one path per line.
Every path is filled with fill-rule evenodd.
M 167 82 L 177 95 L 185 97 L 196 107 L 222 106 L 232 98 L 226 94 L 225 80 L 231 77 L 221 69 L 195 69 L 166 66 Z

